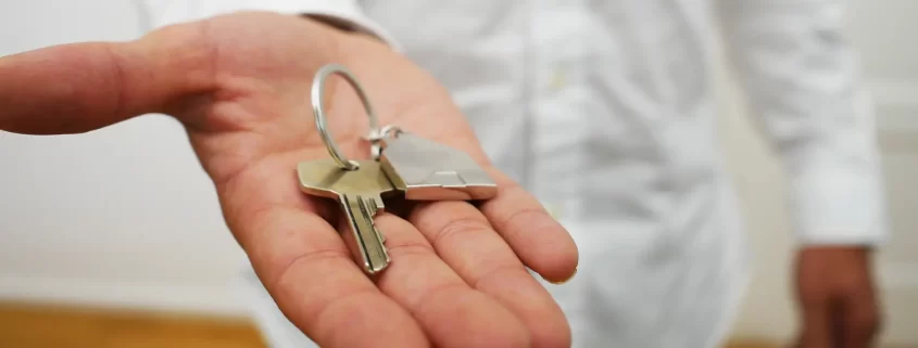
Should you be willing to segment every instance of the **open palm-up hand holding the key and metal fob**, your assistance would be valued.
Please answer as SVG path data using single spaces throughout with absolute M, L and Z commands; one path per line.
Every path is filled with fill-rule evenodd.
M 298 190 L 294 168 L 327 158 L 310 88 L 326 63 L 361 79 L 381 125 L 470 153 L 500 184 L 479 208 L 419 204 L 382 214 L 391 266 L 377 279 L 353 260 L 336 205 Z M 0 59 L 0 129 L 85 132 L 163 113 L 186 128 L 229 229 L 284 313 L 323 347 L 566 347 L 564 314 L 524 265 L 573 275 L 577 249 L 523 189 L 493 169 L 433 78 L 382 43 L 299 16 L 237 13 L 125 43 L 65 44 Z M 329 127 L 368 157 L 362 104 L 330 79 Z

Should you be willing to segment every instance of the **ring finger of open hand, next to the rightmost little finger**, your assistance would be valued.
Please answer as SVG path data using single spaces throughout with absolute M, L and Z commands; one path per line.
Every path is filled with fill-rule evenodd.
M 498 299 L 526 324 L 533 347 L 570 346 L 561 308 L 478 209 L 465 202 L 423 204 L 411 222 L 466 283 Z

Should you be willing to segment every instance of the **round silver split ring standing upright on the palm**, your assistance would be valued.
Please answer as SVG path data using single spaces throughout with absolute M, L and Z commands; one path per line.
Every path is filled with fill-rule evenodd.
M 379 140 L 374 140 L 373 138 L 375 134 L 385 134 L 385 132 L 380 132 L 378 130 L 379 128 L 377 126 L 376 114 L 373 112 L 373 105 L 369 103 L 369 98 L 366 96 L 366 92 L 364 92 L 363 87 L 347 67 L 340 64 L 328 64 L 318 69 L 318 73 L 316 73 L 316 76 L 313 79 L 312 89 L 315 126 L 318 129 L 319 136 L 322 136 L 323 142 L 325 142 L 325 147 L 328 149 L 328 154 L 331 155 L 335 163 L 344 170 L 356 170 L 360 168 L 360 165 L 352 159 L 348 159 L 348 157 L 341 153 L 341 150 L 338 149 L 338 144 L 336 144 L 335 140 L 331 138 L 331 133 L 328 131 L 328 125 L 326 125 L 325 121 L 325 105 L 323 104 L 323 100 L 325 99 L 325 81 L 332 74 L 339 74 L 344 77 L 344 79 L 351 83 L 351 87 L 356 90 L 357 95 L 361 98 L 364 109 L 369 117 L 370 141 L 373 141 L 374 159 L 377 157 L 376 154 L 378 153 L 377 147 Z

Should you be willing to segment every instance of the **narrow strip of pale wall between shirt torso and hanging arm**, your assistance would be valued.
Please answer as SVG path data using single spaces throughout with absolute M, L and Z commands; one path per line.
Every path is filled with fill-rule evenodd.
M 719 128 L 747 223 L 753 282 L 735 335 L 752 338 L 788 337 L 794 327 L 788 271 L 792 239 L 784 208 L 787 184 L 781 168 L 752 123 L 729 72 L 720 73 Z

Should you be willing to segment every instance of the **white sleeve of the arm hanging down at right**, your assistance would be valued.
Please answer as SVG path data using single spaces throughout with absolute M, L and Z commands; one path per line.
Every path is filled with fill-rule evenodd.
M 832 0 L 721 0 L 729 55 L 752 112 L 784 164 L 803 244 L 886 237 L 870 96 Z

